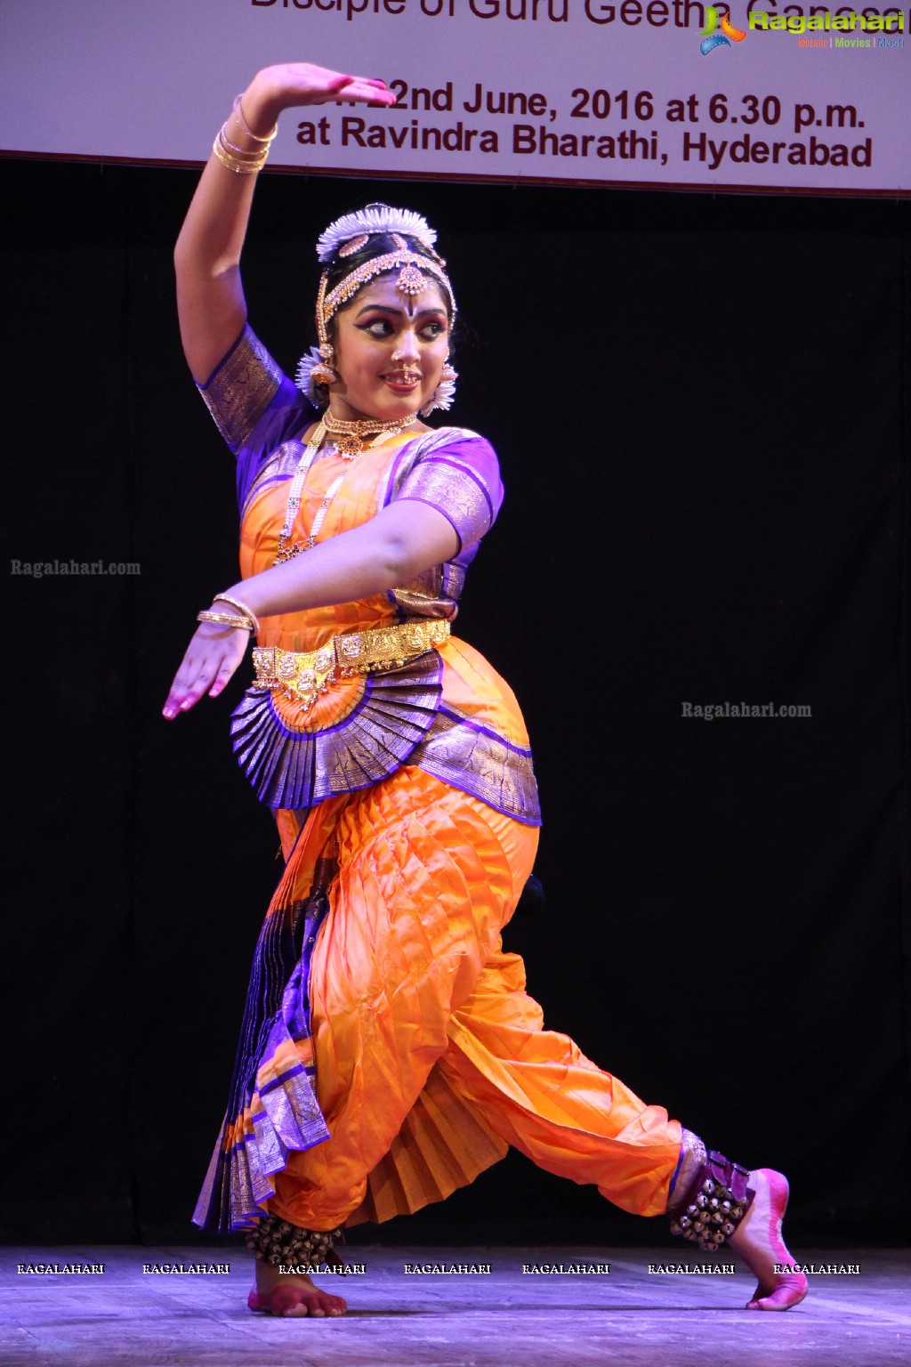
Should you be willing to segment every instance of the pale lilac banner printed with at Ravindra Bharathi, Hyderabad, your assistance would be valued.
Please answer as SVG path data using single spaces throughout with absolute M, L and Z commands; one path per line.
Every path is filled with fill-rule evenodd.
M 311 172 L 911 194 L 911 11 L 781 0 L 18 0 L 7 153 L 201 163 L 276 62 L 393 109 L 288 111 Z

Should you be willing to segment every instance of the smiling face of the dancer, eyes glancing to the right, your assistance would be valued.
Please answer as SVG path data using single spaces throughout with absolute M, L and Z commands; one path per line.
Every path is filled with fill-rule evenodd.
M 423 407 L 440 383 L 449 350 L 443 293 L 429 280 L 421 294 L 396 288 L 397 271 L 377 276 L 336 314 L 329 390 L 340 418 L 396 418 Z

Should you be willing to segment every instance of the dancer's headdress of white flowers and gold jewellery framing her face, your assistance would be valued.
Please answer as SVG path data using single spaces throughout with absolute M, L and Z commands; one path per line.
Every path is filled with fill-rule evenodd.
M 428 276 L 438 282 L 449 301 L 451 319 L 456 314 L 455 295 L 445 273 L 445 261 L 434 250 L 437 235 L 429 227 L 426 219 L 411 209 L 392 209 L 388 204 L 369 204 L 356 213 L 346 213 L 336 219 L 325 230 L 317 242 L 317 256 L 320 261 L 328 262 L 333 257 L 354 256 L 366 246 L 374 234 L 389 235 L 395 242 L 395 252 L 385 252 L 381 256 L 370 257 L 355 267 L 332 290 L 328 288 L 329 269 L 324 269 L 317 291 L 317 336 L 318 347 L 310 347 L 298 362 L 295 383 L 306 396 L 321 407 L 325 398 L 317 391 L 317 385 L 335 384 L 339 379 L 333 369 L 335 347 L 329 342 L 328 324 L 331 319 L 343 308 L 365 284 L 387 271 L 397 271 L 396 290 L 404 295 L 422 294 L 428 287 Z M 414 238 L 429 253 L 412 252 L 404 241 L 403 234 Z M 448 409 L 455 396 L 456 372 L 447 364 L 443 366 L 440 383 L 430 401 L 421 409 L 423 417 L 434 409 Z

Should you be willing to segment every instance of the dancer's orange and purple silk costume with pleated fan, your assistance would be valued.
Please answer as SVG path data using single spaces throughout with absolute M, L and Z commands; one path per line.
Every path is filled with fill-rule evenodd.
M 250 328 L 202 394 L 238 458 L 247 577 L 273 563 L 318 414 Z M 309 469 L 296 540 L 343 469 L 332 447 Z M 501 496 L 496 455 L 473 432 L 367 448 L 318 539 L 418 499 L 451 521 L 455 559 L 363 601 L 265 618 L 260 645 L 318 651 L 339 633 L 452 621 Z M 501 947 L 539 809 L 522 714 L 488 662 L 449 636 L 402 667 L 337 679 L 306 709 L 250 692 L 232 733 L 275 809 L 285 868 L 195 1222 L 385 1221 L 473 1181 L 509 1144 L 626 1210 L 664 1213 L 699 1141 L 545 1031 L 522 960 Z M 316 919 L 306 899 L 331 841 L 339 872 Z

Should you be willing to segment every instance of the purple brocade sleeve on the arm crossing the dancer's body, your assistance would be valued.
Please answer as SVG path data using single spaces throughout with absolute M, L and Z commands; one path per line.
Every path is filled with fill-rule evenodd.
M 496 451 L 474 432 L 459 431 L 453 440 L 421 455 L 406 474 L 397 499 L 429 503 L 452 524 L 459 550 L 479 541 L 503 503 Z

